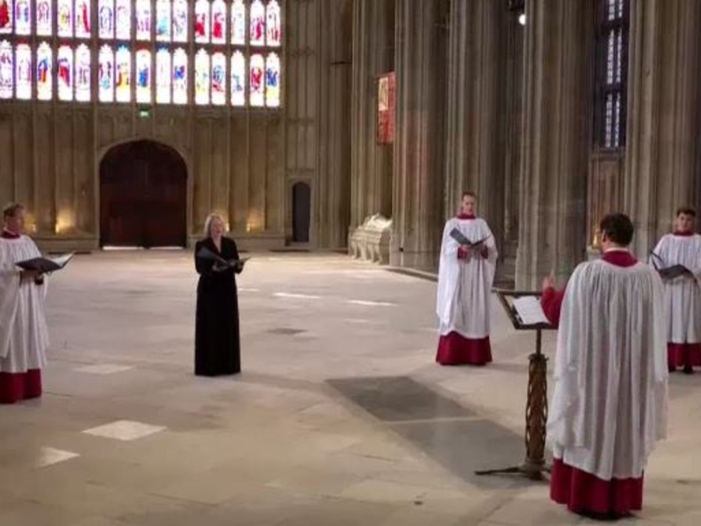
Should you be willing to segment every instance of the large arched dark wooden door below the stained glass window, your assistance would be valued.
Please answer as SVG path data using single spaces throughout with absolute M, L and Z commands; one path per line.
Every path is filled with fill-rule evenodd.
M 134 141 L 100 162 L 100 246 L 185 247 L 187 167 L 169 146 Z

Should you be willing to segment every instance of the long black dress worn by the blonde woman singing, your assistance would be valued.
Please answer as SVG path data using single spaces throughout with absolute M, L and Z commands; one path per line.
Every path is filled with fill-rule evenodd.
M 222 251 L 210 237 L 198 241 L 226 260 L 238 259 L 236 242 L 222 237 Z M 195 268 L 200 275 L 197 284 L 197 315 L 195 322 L 195 374 L 201 376 L 231 375 L 241 371 L 238 335 L 238 295 L 235 270 L 212 270 L 213 261 L 195 256 Z M 240 270 L 236 270 L 240 272 Z

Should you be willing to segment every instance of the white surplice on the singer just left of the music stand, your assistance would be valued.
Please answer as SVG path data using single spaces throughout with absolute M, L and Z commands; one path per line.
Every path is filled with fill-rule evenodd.
M 450 236 L 453 228 L 471 242 L 486 237 L 487 257 L 470 254 L 467 259 L 458 259 L 458 242 Z M 497 255 L 494 235 L 484 219 L 453 218 L 445 223 L 436 301 L 441 335 L 455 331 L 464 338 L 489 336 L 489 304 Z

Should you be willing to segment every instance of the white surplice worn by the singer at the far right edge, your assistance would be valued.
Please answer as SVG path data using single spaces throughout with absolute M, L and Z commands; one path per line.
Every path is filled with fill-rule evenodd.
M 684 265 L 693 272 L 693 276 L 663 280 L 667 341 L 701 342 L 701 235 L 667 234 L 655 247 L 654 253 L 662 261 L 651 257 L 651 265 L 655 263 L 658 268 Z

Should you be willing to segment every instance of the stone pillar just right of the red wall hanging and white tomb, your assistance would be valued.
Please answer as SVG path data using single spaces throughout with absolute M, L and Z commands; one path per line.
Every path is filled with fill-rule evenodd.
M 434 268 L 444 193 L 447 2 L 397 0 L 390 263 Z

